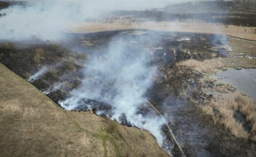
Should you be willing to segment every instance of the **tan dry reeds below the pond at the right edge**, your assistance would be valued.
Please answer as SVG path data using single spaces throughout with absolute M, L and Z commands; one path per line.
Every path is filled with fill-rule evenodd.
M 256 141 L 256 104 L 248 96 L 241 93 L 222 94 L 218 99 L 213 99 L 210 105 L 202 106 L 202 110 L 211 115 L 215 123 L 220 121 L 224 124 L 234 136 Z M 245 115 L 246 121 L 252 125 L 249 132 L 234 117 L 236 112 Z

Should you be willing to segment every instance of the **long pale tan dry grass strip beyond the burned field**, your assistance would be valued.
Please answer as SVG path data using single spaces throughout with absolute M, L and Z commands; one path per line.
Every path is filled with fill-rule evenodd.
M 255 27 L 242 27 L 234 25 L 197 23 L 197 22 L 154 22 L 121 24 L 109 23 L 79 23 L 70 25 L 68 31 L 74 33 L 91 33 L 101 31 L 113 31 L 119 29 L 153 29 L 159 31 L 209 33 L 238 37 L 248 40 L 256 40 Z

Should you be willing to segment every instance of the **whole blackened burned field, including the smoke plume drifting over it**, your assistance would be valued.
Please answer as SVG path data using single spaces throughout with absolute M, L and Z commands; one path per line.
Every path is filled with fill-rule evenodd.
M 233 136 L 203 114 L 199 106 L 213 95 L 202 88 L 214 87 L 201 83 L 205 73 L 176 64 L 228 57 L 228 37 L 147 30 L 65 36 L 58 43 L 1 43 L 0 61 L 61 108 L 93 110 L 123 125 L 147 129 L 173 156 L 256 155 L 255 142 Z M 165 118 L 175 137 L 141 97 Z M 124 112 L 129 109 L 135 111 Z

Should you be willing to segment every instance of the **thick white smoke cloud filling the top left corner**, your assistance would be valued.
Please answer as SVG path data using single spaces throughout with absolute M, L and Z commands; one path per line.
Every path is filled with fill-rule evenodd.
M 0 40 L 61 40 L 63 30 L 111 9 L 97 1 L 29 1 L 1 10 Z

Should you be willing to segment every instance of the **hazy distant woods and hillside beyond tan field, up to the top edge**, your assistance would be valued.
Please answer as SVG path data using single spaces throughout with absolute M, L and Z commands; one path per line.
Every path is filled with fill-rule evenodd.
M 116 16 L 134 16 L 154 21 L 199 21 L 256 27 L 256 0 L 200 1 L 167 5 L 145 11 L 115 11 Z

